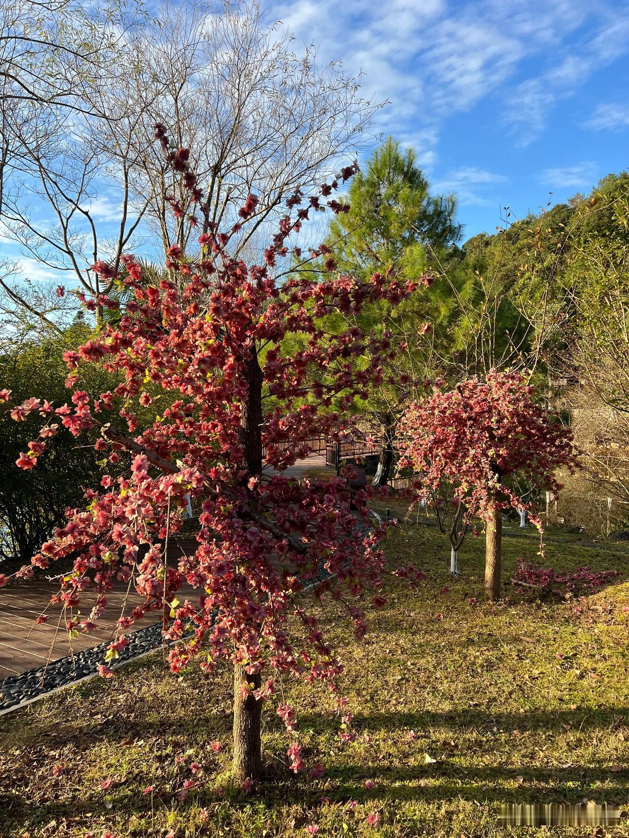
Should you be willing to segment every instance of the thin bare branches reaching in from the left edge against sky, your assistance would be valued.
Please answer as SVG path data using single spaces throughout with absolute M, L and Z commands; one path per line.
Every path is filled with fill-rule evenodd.
M 33 253 L 44 266 L 67 269 L 53 254 L 56 250 L 70 257 L 75 234 L 64 243 L 62 217 L 59 225 L 48 221 L 39 235 L 41 222 L 33 224 L 33 204 L 41 197 L 52 200 L 59 216 L 63 201 L 76 203 L 81 197 L 81 189 L 73 191 L 73 178 L 53 163 L 51 149 L 57 145 L 58 160 L 65 151 L 62 127 L 80 115 L 93 116 L 90 102 L 77 96 L 80 82 L 94 78 L 111 61 L 136 12 L 122 10 L 117 0 L 94 7 L 78 0 L 0 0 L 0 223 L 6 244 L 23 246 L 23 252 Z M 35 217 L 40 209 L 34 208 Z M 65 303 L 55 295 L 57 303 L 51 307 L 49 287 L 29 287 L 20 261 L 13 259 L 13 270 L 8 270 L 11 266 L 11 258 L 3 258 L 3 314 L 13 325 L 24 325 L 23 316 L 29 313 L 31 325 L 59 328 L 59 318 L 55 322 L 50 315 L 67 308 Z

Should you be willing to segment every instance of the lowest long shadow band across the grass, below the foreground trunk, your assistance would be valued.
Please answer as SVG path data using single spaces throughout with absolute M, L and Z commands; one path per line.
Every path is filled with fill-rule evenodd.
M 575 765 L 570 768 L 523 768 L 522 779 L 515 784 L 516 772 L 507 768 L 486 768 L 460 766 L 444 761 L 425 768 L 399 768 L 373 763 L 369 765 L 348 765 L 332 770 L 327 779 L 333 788 L 325 789 L 331 804 L 345 805 L 350 799 L 359 804 L 447 804 L 456 801 L 486 806 L 496 804 L 578 804 L 583 799 L 594 799 L 598 803 L 626 804 L 629 797 L 629 771 L 611 773 L 609 768 Z M 374 789 L 366 790 L 363 778 L 377 778 Z M 509 784 L 509 785 L 506 785 Z M 170 794 L 161 796 L 141 793 L 108 794 L 101 792 L 83 794 L 81 799 L 50 800 L 45 804 L 31 804 L 23 797 L 9 795 L 3 802 L 3 817 L 0 827 L 24 828 L 48 823 L 51 819 L 71 818 L 75 825 L 85 821 L 93 824 L 94 819 L 107 819 L 112 810 L 125 818 L 131 815 L 146 817 L 159 810 L 176 809 L 181 820 L 186 812 L 195 807 L 211 804 L 226 804 L 231 810 L 265 810 L 273 812 L 279 808 L 296 804 L 316 810 L 321 805 L 322 788 L 287 778 L 283 782 L 262 783 L 257 790 L 244 795 L 237 789 L 227 789 L 220 798 L 216 796 L 211 782 L 206 789 L 190 794 L 185 802 Z M 191 812 L 190 812 L 191 814 Z M 226 823 L 230 820 L 226 816 Z M 13 834 L 9 832 L 8 834 Z

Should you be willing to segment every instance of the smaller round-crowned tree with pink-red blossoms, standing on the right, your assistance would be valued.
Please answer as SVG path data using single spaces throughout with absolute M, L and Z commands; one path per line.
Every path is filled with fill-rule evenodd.
M 402 458 L 399 468 L 421 474 L 420 496 L 448 483 L 453 501 L 465 507 L 465 521 L 486 521 L 485 590 L 500 593 L 502 510 L 528 510 L 538 529 L 542 524 L 513 488 L 514 478 L 529 486 L 561 488 L 555 470 L 574 473 L 580 463 L 572 431 L 533 400 L 533 387 L 520 372 L 491 372 L 444 392 L 435 383 L 432 397 L 409 406 L 400 423 Z

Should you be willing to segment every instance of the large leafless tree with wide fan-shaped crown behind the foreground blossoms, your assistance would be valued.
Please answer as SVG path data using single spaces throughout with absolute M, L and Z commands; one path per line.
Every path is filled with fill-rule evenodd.
M 55 61 L 63 76 L 76 59 Z M 110 290 L 91 272 L 98 260 L 194 248 L 191 215 L 200 232 L 231 229 L 238 255 L 283 214 L 283 198 L 360 150 L 377 106 L 361 98 L 360 78 L 321 65 L 314 46 L 296 51 L 281 23 L 267 26 L 258 0 L 164 3 L 127 25 L 93 72 L 73 75 L 64 96 L 20 101 L 7 115 L 5 234 L 89 293 Z M 156 123 L 171 137 L 167 152 L 190 149 L 209 184 L 195 204 L 155 142 Z M 257 205 L 242 224 L 248 194 Z

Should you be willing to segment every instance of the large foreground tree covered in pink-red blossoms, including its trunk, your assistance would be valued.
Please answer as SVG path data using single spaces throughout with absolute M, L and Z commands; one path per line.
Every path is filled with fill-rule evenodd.
M 209 209 L 188 153 L 171 146 L 163 126 L 156 127 L 156 137 L 195 203 L 197 217 L 185 222 L 195 226 L 200 217 L 201 229 L 207 230 L 199 237 L 200 255 L 192 260 L 171 246 L 160 280 L 154 274 L 143 277 L 133 256 L 122 260 L 117 274 L 98 262 L 94 271 L 113 280 L 117 297 L 84 303 L 91 310 L 120 308 L 119 317 L 106 318 L 100 332 L 65 354 L 67 403 L 34 397 L 13 405 L 6 391 L 0 398 L 14 420 L 37 413 L 43 420 L 39 437 L 18 457 L 20 468 L 34 468 L 57 432 L 65 429 L 77 437 L 87 429 L 99 432 L 95 447 L 106 463 L 101 488 L 86 492 L 86 507 L 69 510 L 65 526 L 32 560 L 47 568 L 60 558 L 73 559 L 60 590 L 68 628 L 94 629 L 107 608 L 108 592 L 117 582 L 130 581 L 143 598 L 118 620 L 101 675 L 112 675 L 108 663 L 127 644 L 125 633 L 153 611 L 164 620 L 165 638 L 174 642 L 169 653 L 174 672 L 193 658 L 205 673 L 230 662 L 234 770 L 237 778 L 251 781 L 262 767 L 261 704 L 273 696 L 278 675 L 323 681 L 341 715 L 346 704 L 336 683 L 343 667 L 308 597 L 299 593 L 314 582 L 317 597 L 330 596 L 346 609 L 358 638 L 366 632 L 366 592 L 373 590 L 369 596 L 376 606 L 385 602 L 377 594 L 384 525 L 368 523 L 370 490 L 352 492 L 343 478 L 298 482 L 282 474 L 309 452 L 310 437 L 342 440 L 356 434 L 349 406 L 386 378 L 383 370 L 394 351 L 389 334 L 376 338 L 356 326 L 325 334 L 321 319 L 337 310 L 349 319 L 378 299 L 396 303 L 416 283 L 379 275 L 359 281 L 339 276 L 333 264 L 324 277 L 291 270 L 317 259 L 320 251 L 289 250 L 290 236 L 311 212 L 346 211 L 333 193 L 356 165 L 343 168 L 318 194 L 306 196 L 298 189 L 289 195 L 287 214 L 260 264 L 247 266 L 229 256 L 230 242 L 243 225 L 256 224 L 256 196 L 247 198 L 237 225 L 219 232 L 206 217 Z M 170 204 L 181 216 L 179 204 L 174 199 Z M 292 262 L 282 272 L 287 256 Z M 282 349 L 290 332 L 306 338 L 293 354 Z M 366 357 L 372 363 L 361 369 L 365 365 L 356 361 Z M 81 370 L 91 364 L 120 380 L 96 399 L 81 389 Z M 138 430 L 140 406 L 149 408 L 160 397 L 161 415 Z M 125 452 L 131 468 L 113 478 L 107 464 L 119 463 Z M 273 473 L 264 472 L 265 461 Z M 187 496 L 200 509 L 199 546 L 169 566 L 167 542 L 179 530 Z M 33 572 L 27 566 L 18 576 Z M 6 582 L 0 578 L 0 585 Z M 176 594 L 185 584 L 195 588 L 195 595 L 181 603 Z M 76 609 L 89 587 L 96 589 L 96 605 L 79 616 Z M 301 628 L 290 634 L 294 618 Z M 280 705 L 278 713 L 294 732 L 294 708 Z M 343 738 L 351 737 L 350 721 L 344 716 Z M 291 768 L 299 771 L 297 742 L 288 754 Z

